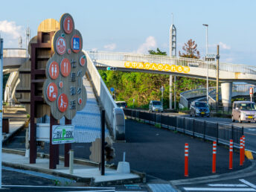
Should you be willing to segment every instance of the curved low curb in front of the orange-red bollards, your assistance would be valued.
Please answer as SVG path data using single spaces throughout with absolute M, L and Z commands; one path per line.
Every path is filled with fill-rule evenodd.
M 220 179 L 226 180 L 226 179 L 235 179 L 235 178 L 240 178 L 241 174 L 256 174 L 255 168 L 256 168 L 256 161 L 251 161 L 252 165 L 249 167 L 246 167 L 243 170 L 237 170 L 231 173 L 223 173 L 220 175 L 214 175 L 214 176 L 201 176 L 201 177 L 196 177 L 192 179 L 179 179 L 179 180 L 171 180 L 169 181 L 172 185 L 191 185 L 191 184 L 199 184 L 199 183 L 205 183 L 205 182 L 217 182 Z M 225 179 L 225 177 L 227 177 Z

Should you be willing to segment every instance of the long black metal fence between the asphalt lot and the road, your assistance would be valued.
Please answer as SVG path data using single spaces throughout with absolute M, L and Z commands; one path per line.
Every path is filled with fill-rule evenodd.
M 183 132 L 187 135 L 203 138 L 208 141 L 217 141 L 217 143 L 228 145 L 229 140 L 233 139 L 236 147 L 239 147 L 240 137 L 243 135 L 243 127 L 234 127 L 193 118 L 163 115 L 132 109 L 124 109 L 124 114 L 127 118 L 142 120 L 149 124 L 159 124 L 163 128 Z

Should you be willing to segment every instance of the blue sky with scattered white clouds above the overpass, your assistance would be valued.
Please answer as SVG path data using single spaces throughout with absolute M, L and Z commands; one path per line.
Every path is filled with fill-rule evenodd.
M 160 48 L 169 54 L 169 29 L 174 24 L 177 54 L 193 39 L 205 57 L 202 24 L 208 24 L 209 54 L 216 54 L 220 45 L 221 62 L 256 66 L 255 7 L 255 0 L 1 1 L 0 33 L 4 48 L 18 48 L 19 36 L 25 48 L 28 26 L 31 37 L 36 36 L 44 19 L 60 21 L 63 13 L 70 13 L 86 51 L 148 54 Z

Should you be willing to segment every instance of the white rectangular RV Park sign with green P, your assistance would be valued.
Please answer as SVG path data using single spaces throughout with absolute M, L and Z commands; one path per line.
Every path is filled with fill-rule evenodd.
M 54 125 L 51 144 L 74 143 L 74 125 Z

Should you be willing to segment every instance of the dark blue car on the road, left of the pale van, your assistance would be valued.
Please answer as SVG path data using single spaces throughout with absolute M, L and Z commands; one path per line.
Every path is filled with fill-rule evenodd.
M 210 109 L 208 107 L 208 104 L 206 102 L 202 101 L 193 101 L 191 103 L 191 110 L 190 110 L 190 115 L 196 116 L 206 116 L 210 117 Z

